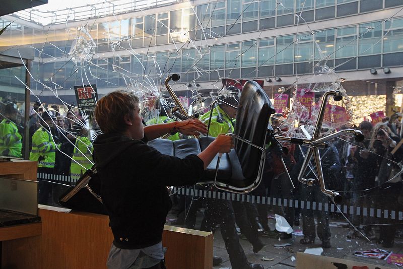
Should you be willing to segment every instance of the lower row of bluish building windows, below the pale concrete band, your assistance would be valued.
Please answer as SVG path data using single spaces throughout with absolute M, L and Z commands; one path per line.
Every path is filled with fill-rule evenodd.
M 90 65 L 90 74 L 116 81 L 121 74 L 137 79 L 182 73 L 186 74 L 182 76 L 184 82 L 311 74 L 318 62 L 335 67 L 336 71 L 396 66 L 401 65 L 403 55 L 403 18 L 326 29 L 313 35 L 301 33 L 120 57 L 97 58 L 99 55 Z M 71 81 L 77 76 L 72 73 L 72 61 L 39 66 L 43 81 L 50 77 L 59 82 Z

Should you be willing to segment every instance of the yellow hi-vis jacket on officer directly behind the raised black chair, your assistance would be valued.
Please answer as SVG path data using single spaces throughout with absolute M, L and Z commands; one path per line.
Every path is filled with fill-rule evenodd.
M 220 111 L 220 113 L 223 117 L 222 123 L 217 121 L 218 111 Z M 199 120 L 201 120 L 205 124 L 209 125 L 209 117 L 210 117 L 210 111 L 201 115 L 199 117 Z M 232 133 L 232 132 L 234 132 L 234 126 L 232 126 L 231 118 L 219 106 L 215 107 L 213 109 L 213 115 L 211 118 L 209 136 L 218 137 L 218 135 L 220 133 L 225 134 L 225 133 Z

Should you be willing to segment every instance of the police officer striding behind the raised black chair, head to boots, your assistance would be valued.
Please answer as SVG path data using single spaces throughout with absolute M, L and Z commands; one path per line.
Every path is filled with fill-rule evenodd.
M 223 101 L 237 106 L 237 95 L 239 90 L 235 87 L 228 87 L 233 96 L 225 98 Z M 212 119 L 210 122 L 209 135 L 217 137 L 220 133 L 231 133 L 234 131 L 233 118 L 235 118 L 236 109 L 226 105 L 220 104 L 213 108 Z M 202 115 L 199 119 L 206 124 L 209 122 L 210 111 Z M 261 264 L 253 264 L 247 260 L 245 252 L 239 242 L 239 237 L 235 229 L 235 218 L 233 204 L 229 200 L 207 198 L 207 205 L 205 210 L 205 217 L 201 221 L 200 230 L 213 231 L 219 225 L 221 234 L 224 239 L 225 246 L 228 251 L 231 266 L 234 269 L 262 269 Z M 238 222 L 237 222 L 238 223 Z M 251 229 L 249 224 L 249 230 Z M 257 236 L 254 238 L 258 240 Z M 256 241 L 257 242 L 257 241 Z M 255 243 L 255 242 L 253 242 Z M 253 244 L 252 243 L 252 244 Z M 256 243 L 253 246 L 254 252 L 259 251 L 264 245 Z M 258 249 L 258 250 L 257 250 Z M 256 251 L 257 250 L 257 251 Z M 213 263 L 219 260 L 219 257 L 214 257 Z M 218 262 L 217 262 L 218 263 Z M 216 263 L 216 264 L 217 264 Z

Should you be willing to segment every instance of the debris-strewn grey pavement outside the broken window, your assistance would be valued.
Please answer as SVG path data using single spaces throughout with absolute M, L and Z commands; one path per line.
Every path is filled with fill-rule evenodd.
M 167 219 L 175 219 L 174 214 L 169 214 Z M 200 227 L 201 219 L 203 218 L 203 213 L 199 212 L 196 219 L 195 228 Z M 346 220 L 341 219 L 342 216 L 338 219 L 331 219 L 330 221 L 330 230 L 331 230 L 331 248 L 323 249 L 322 256 L 336 257 L 348 260 L 355 260 L 364 263 L 370 263 L 375 265 L 381 265 L 390 268 L 401 268 L 397 267 L 394 264 L 387 264 L 386 260 L 378 260 L 374 258 L 367 257 L 359 257 L 355 256 L 354 252 L 358 250 L 368 250 L 372 248 L 381 248 L 388 251 L 393 251 L 393 253 L 403 254 L 403 239 L 395 239 L 394 246 L 391 248 L 383 248 L 381 245 L 376 244 L 376 239 L 369 242 L 364 238 L 357 239 L 347 239 L 347 234 L 349 232 L 349 228 L 340 227 L 340 224 L 347 224 Z M 274 219 L 268 219 L 269 226 L 272 230 L 275 230 Z M 167 222 L 168 225 L 172 225 Z M 301 230 L 302 231 L 302 222 L 300 226 L 294 226 L 294 231 Z M 181 225 L 175 225 L 178 227 L 183 227 Z M 377 234 L 378 235 L 378 234 Z M 302 239 L 303 236 L 293 235 L 291 239 L 277 240 L 267 237 L 260 237 L 262 242 L 265 244 L 262 250 L 260 250 L 257 254 L 254 254 L 252 251 L 252 245 L 247 240 L 240 239 L 241 245 L 245 251 L 245 254 L 252 263 L 260 263 L 264 266 L 264 268 L 276 268 L 276 269 L 291 269 L 296 266 L 296 255 L 297 252 L 304 252 L 306 248 L 315 248 L 320 247 L 320 240 L 316 238 L 315 243 L 311 245 L 302 245 L 299 240 Z M 276 248 L 274 244 L 284 244 L 284 243 L 292 243 L 291 246 Z M 221 233 L 217 230 L 214 233 L 214 256 L 220 256 L 223 259 L 223 263 L 214 268 L 217 269 L 229 269 L 231 268 L 231 264 L 229 261 L 228 253 L 225 248 L 224 240 L 221 237 Z M 272 261 L 262 261 L 262 258 L 273 258 Z

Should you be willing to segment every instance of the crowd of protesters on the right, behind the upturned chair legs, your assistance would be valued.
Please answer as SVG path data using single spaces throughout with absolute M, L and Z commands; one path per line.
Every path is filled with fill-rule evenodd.
M 229 117 L 225 111 L 222 113 L 226 115 L 224 118 Z M 215 120 L 214 115 L 213 113 L 212 122 Z M 203 119 L 203 116 L 201 118 Z M 282 127 L 282 120 L 284 120 L 282 114 L 274 115 L 271 122 L 273 128 Z M 300 124 L 304 124 L 304 122 L 300 122 Z M 363 142 L 355 142 L 353 138 L 347 136 L 335 138 L 328 143 L 325 149 L 320 150 L 320 157 L 326 188 L 338 191 L 344 198 L 343 205 L 351 206 L 348 208 L 352 208 L 353 211 L 343 215 L 337 210 L 338 205 L 335 205 L 335 211 L 331 212 L 330 206 L 333 202 L 321 192 L 317 180 L 313 181 L 312 186 L 298 181 L 307 148 L 290 144 L 286 145 L 287 151 L 279 151 L 279 148 L 275 146 L 267 147 L 263 180 L 251 194 L 272 199 L 281 198 L 285 201 L 293 200 L 294 204 L 286 202 L 287 205 L 269 207 L 259 203 L 233 201 L 230 210 L 227 206 L 226 213 L 223 213 L 224 210 L 218 208 L 216 214 L 221 214 L 221 220 L 224 220 L 223 214 L 234 212 L 235 224 L 240 228 L 240 236 L 249 240 L 255 253 L 264 246 L 259 240 L 260 236 L 280 239 L 292 237 L 291 234 L 270 229 L 267 221 L 267 215 L 270 213 L 283 216 L 291 227 L 298 227 L 302 224 L 304 236 L 300 240 L 300 244 L 313 244 L 319 238 L 323 248 L 331 247 L 330 219 L 343 221 L 347 218 L 354 224 L 354 227 L 350 224 L 346 225 L 350 227 L 350 232 L 346 233 L 347 238 L 365 237 L 376 240 L 375 242 L 382 247 L 392 247 L 395 236 L 399 236 L 397 212 L 403 209 L 403 188 L 400 182 L 403 147 L 400 147 L 399 144 L 400 124 L 397 120 L 391 122 L 389 118 L 384 118 L 382 122 L 376 124 L 362 121 L 358 126 L 354 125 L 351 128 L 360 130 L 364 134 Z M 323 129 L 323 131 L 331 130 Z M 300 129 L 296 128 L 295 133 L 298 132 Z M 295 188 L 292 187 L 282 159 Z M 311 162 L 303 177 L 317 179 L 315 171 L 314 164 Z M 181 197 L 183 195 L 178 196 L 178 204 L 173 208 L 178 219 L 173 224 L 198 228 L 194 220 L 196 210 L 203 207 L 208 210 L 212 202 L 209 198 L 203 200 L 198 197 L 194 200 L 193 197 L 192 200 L 189 200 L 183 199 Z M 260 201 L 262 200 L 264 199 L 260 198 Z M 296 200 L 300 202 L 297 206 Z M 301 209 L 301 201 L 305 205 L 310 202 L 311 208 L 305 206 Z M 313 210 L 312 202 L 316 202 L 318 208 Z M 371 216 L 370 209 L 381 210 L 382 218 Z M 364 210 L 368 210 L 368 213 L 363 214 Z M 207 216 L 205 215 L 204 218 Z M 216 218 L 219 219 L 219 217 Z M 217 225 L 217 223 L 214 224 Z M 201 229 L 204 229 L 203 227 L 202 222 Z

